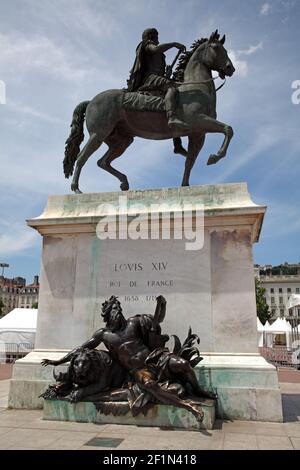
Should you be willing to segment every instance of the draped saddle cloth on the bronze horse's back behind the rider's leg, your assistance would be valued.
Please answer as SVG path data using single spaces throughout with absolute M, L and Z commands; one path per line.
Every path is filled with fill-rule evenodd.
M 166 111 L 164 98 L 138 91 L 124 92 L 122 107 L 127 111 L 153 111 L 157 113 Z

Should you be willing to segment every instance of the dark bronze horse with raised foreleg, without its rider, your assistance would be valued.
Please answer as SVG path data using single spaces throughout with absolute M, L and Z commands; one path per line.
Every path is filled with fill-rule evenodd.
M 165 112 L 124 109 L 124 90 L 107 90 L 96 95 L 91 101 L 80 103 L 73 113 L 71 134 L 66 142 L 64 159 L 66 178 L 73 174 L 76 163 L 72 191 L 81 193 L 81 169 L 102 142 L 109 148 L 98 160 L 98 166 L 116 176 L 123 191 L 129 189 L 127 176 L 113 168 L 111 163 L 125 152 L 136 136 L 152 140 L 188 137 L 182 186 L 189 185 L 190 173 L 204 144 L 206 133 L 221 133 L 225 136 L 221 148 L 209 157 L 207 164 L 217 163 L 225 157 L 233 130 L 231 126 L 216 120 L 216 88 L 212 78 L 213 70 L 217 71 L 222 79 L 231 77 L 235 71 L 224 48 L 224 42 L 225 36 L 220 39 L 220 35 L 215 31 L 209 39 L 196 41 L 191 51 L 183 53 L 174 78 L 180 74 L 183 78 L 183 82 L 178 86 L 176 112 L 178 117 L 187 123 L 186 129 L 169 128 Z M 80 151 L 80 144 L 84 139 L 84 118 L 90 138 Z

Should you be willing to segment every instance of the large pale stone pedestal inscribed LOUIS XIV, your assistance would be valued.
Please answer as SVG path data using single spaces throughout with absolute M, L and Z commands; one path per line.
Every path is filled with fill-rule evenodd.
M 282 420 L 277 373 L 257 345 L 252 244 L 264 213 L 245 183 L 50 196 L 28 221 L 43 236 L 36 350 L 14 366 L 10 406 L 42 406 L 38 391 L 52 377 L 40 359 L 101 327 L 110 295 L 131 316 L 154 313 L 162 294 L 163 331 L 184 340 L 191 326 L 201 338 L 197 373 L 218 389 L 219 416 Z M 117 239 L 103 239 L 114 222 Z M 193 233 L 201 249 L 183 237 Z

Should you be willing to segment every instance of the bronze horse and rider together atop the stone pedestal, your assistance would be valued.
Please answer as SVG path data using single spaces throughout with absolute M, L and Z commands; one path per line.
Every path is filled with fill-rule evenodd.
M 111 163 L 125 152 L 134 137 L 173 139 L 175 153 L 186 156 L 182 186 L 189 185 L 191 170 L 207 133 L 224 134 L 220 149 L 209 157 L 207 164 L 224 158 L 233 130 L 216 119 L 215 77 L 212 76 L 212 71 L 217 71 L 219 77 L 225 79 L 235 71 L 224 43 L 225 36 L 220 38 L 215 31 L 209 38 L 195 41 L 186 51 L 180 43 L 159 44 L 154 28 L 144 31 L 128 89 L 104 91 L 74 110 L 64 158 L 66 178 L 73 175 L 72 191 L 81 192 L 82 167 L 103 142 L 108 145 L 108 151 L 98 160 L 98 166 L 116 176 L 122 190 L 129 189 L 127 176 Z M 171 48 L 181 52 L 172 76 L 164 55 Z M 90 137 L 80 150 L 84 120 Z M 185 136 L 188 137 L 187 152 L 181 143 L 181 137 Z

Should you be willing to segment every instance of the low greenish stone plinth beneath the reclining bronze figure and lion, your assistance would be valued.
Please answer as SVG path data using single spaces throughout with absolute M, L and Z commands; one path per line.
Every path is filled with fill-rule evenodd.
M 214 400 L 203 400 L 199 404 L 204 412 L 204 419 L 201 424 L 198 423 L 191 412 L 175 406 L 154 405 L 147 410 L 145 416 L 143 413 L 140 413 L 138 416 L 132 416 L 130 411 L 122 416 L 113 416 L 112 414 L 105 415 L 101 413 L 92 402 L 70 403 L 66 400 L 44 400 L 43 419 L 81 423 L 183 428 L 191 431 L 212 429 L 216 416 Z

